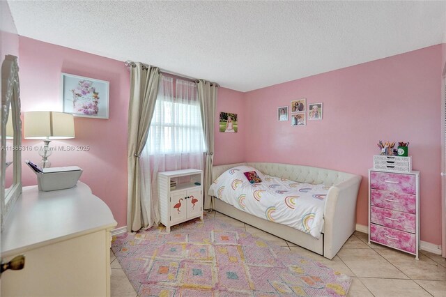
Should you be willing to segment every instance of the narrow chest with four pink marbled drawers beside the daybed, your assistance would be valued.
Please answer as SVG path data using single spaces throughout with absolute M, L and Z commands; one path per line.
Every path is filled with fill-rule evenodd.
M 369 170 L 369 243 L 415 255 L 420 242 L 420 172 Z

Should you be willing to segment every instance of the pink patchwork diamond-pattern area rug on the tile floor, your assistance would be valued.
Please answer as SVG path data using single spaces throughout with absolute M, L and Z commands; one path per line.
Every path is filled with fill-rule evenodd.
M 139 296 L 344 296 L 351 278 L 205 216 L 116 236 L 112 250 Z

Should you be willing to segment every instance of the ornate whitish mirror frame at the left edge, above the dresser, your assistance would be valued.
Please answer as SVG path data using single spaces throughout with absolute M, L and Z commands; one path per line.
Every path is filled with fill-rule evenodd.
M 20 119 L 20 84 L 17 56 L 7 55 L 1 65 L 1 162 L 0 207 L 1 229 L 22 194 L 22 120 Z M 6 148 L 6 121 L 11 107 L 14 139 L 13 148 Z M 13 152 L 13 184 L 5 190 L 6 149 Z

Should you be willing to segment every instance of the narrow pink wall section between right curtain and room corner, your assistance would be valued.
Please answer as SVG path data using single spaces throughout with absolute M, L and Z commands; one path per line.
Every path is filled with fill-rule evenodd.
M 215 114 L 214 130 L 214 165 L 245 162 L 245 139 L 247 120 L 244 93 L 231 89 L 218 89 L 218 100 Z M 225 133 L 219 131 L 220 112 L 231 112 L 238 116 L 238 132 Z

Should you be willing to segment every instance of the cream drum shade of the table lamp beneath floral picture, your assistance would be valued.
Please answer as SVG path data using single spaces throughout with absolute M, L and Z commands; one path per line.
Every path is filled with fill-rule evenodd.
M 25 112 L 24 138 L 69 139 L 75 138 L 75 120 L 64 112 Z

